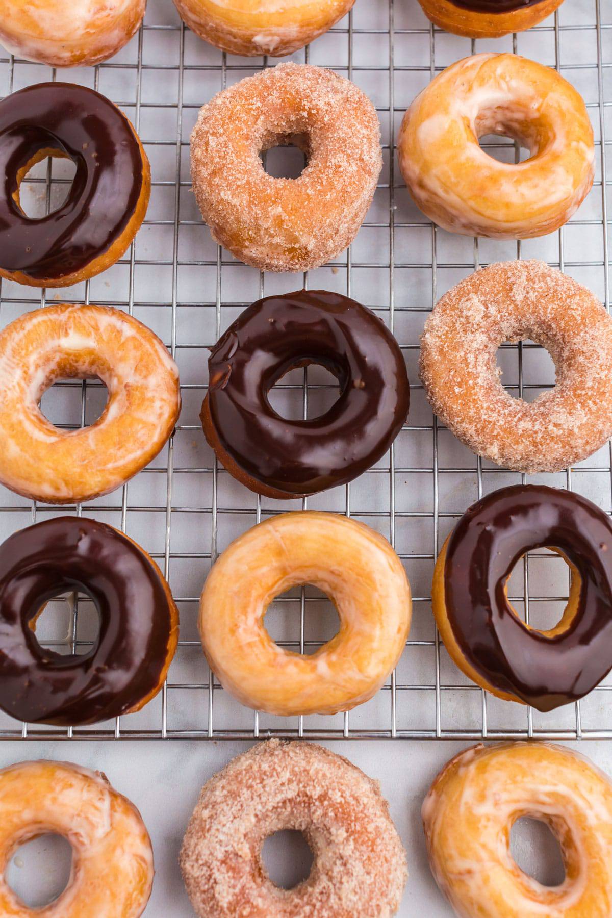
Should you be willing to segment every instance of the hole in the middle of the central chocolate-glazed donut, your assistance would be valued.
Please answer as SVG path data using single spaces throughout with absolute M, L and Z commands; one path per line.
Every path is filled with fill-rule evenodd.
M 338 379 L 320 364 L 287 371 L 267 393 L 271 407 L 284 420 L 316 420 L 335 405 L 339 395 Z

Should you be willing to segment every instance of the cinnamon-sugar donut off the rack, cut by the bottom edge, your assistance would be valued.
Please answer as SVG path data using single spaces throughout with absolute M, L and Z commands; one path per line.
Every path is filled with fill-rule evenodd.
M 261 858 L 283 829 L 306 837 L 310 876 L 282 890 Z M 406 852 L 378 782 L 314 743 L 268 740 L 205 784 L 180 865 L 201 918 L 389 918 L 406 885 Z

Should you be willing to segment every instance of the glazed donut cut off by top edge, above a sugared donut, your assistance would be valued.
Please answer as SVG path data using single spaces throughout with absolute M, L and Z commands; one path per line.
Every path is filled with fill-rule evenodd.
M 349 12 L 355 0 L 174 0 L 201 39 L 230 54 L 284 57 Z

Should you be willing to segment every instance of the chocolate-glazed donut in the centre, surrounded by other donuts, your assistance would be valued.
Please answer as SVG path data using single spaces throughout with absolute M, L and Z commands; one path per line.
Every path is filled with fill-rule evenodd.
M 312 420 L 285 420 L 268 394 L 297 366 L 321 364 L 340 395 Z M 325 290 L 299 290 L 253 303 L 208 361 L 201 419 L 228 472 L 271 498 L 344 485 L 388 450 L 408 411 L 399 345 L 370 309 Z

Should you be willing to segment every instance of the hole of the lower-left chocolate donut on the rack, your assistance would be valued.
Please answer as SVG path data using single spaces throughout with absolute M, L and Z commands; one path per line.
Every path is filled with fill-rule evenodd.
M 100 631 L 91 597 L 68 591 L 44 603 L 29 626 L 40 647 L 63 656 L 88 654 Z

